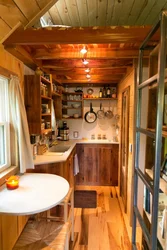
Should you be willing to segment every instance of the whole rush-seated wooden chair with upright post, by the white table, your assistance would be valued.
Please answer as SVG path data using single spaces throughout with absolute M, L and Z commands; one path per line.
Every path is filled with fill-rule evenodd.
M 74 239 L 73 188 L 59 205 L 63 206 L 63 217 L 51 216 L 48 210 L 46 216 L 40 213 L 30 219 L 13 250 L 68 250 L 70 238 Z

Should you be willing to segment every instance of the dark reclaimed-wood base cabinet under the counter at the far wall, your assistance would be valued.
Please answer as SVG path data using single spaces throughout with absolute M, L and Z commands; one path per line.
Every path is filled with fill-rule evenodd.
M 78 144 L 76 185 L 118 185 L 118 144 Z

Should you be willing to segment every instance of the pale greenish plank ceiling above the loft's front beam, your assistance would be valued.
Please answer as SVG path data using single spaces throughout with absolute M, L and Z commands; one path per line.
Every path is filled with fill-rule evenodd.
M 55 5 L 58 12 L 52 12 L 53 19 L 65 21 L 65 16 L 69 15 L 63 24 L 70 23 L 74 27 L 152 25 L 167 8 L 167 1 L 59 0 Z

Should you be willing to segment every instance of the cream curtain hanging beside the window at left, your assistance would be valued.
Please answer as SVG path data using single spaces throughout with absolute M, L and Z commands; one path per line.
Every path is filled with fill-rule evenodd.
M 34 168 L 34 163 L 30 144 L 26 110 L 24 107 L 19 79 L 16 76 L 11 76 L 10 79 L 9 100 L 11 119 L 18 140 L 20 173 L 25 173 L 26 169 Z

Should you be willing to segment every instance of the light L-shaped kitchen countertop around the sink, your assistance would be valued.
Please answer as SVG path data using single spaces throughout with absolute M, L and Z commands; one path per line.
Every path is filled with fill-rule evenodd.
M 69 140 L 69 141 L 57 141 L 58 145 L 69 146 L 70 148 L 64 153 L 59 152 L 46 152 L 43 155 L 37 155 L 34 160 L 34 165 L 65 162 L 76 144 L 119 144 L 119 142 L 113 142 L 111 140 Z

